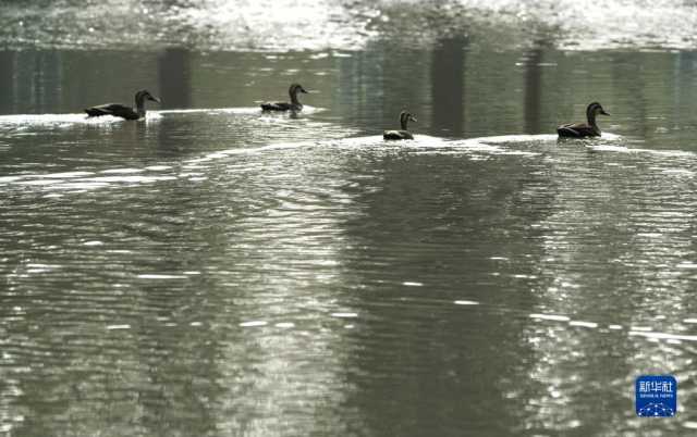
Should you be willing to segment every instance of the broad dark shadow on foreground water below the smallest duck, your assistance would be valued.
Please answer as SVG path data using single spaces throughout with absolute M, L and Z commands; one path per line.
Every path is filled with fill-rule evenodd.
M 521 422 L 509 394 L 535 361 L 521 342 L 526 317 L 496 308 L 534 308 L 529 294 L 502 292 L 513 274 L 534 277 L 543 254 L 529 245 L 539 230 L 512 224 L 543 221 L 547 209 L 537 207 L 551 204 L 555 192 L 535 192 L 549 185 L 537 164 L 494 161 L 505 175 L 494 185 L 484 182 L 492 168 L 466 158 L 392 155 L 356 168 L 383 175 L 355 200 L 364 215 L 345 223 L 354 249 L 343 265 L 360 285 L 345 299 L 356 301 L 364 321 L 347 380 L 359 388 L 351 403 L 360 405 L 369 434 L 505 435 Z M 492 276 L 496 257 L 511 263 Z M 453 304 L 458 299 L 481 305 Z M 482 327 L 485 335 L 474 334 Z M 523 399 L 535 397 L 536 385 L 525 390 Z

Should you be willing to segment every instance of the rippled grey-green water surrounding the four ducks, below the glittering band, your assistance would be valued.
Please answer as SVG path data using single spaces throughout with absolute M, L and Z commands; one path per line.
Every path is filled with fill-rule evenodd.
M 4 39 L 0 433 L 694 435 L 697 53 L 344 40 Z

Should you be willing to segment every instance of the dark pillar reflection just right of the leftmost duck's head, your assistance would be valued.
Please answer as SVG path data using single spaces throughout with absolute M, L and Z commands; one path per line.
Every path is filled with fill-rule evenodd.
M 161 108 L 191 108 L 189 65 L 189 52 L 184 49 L 167 49 L 159 57 Z

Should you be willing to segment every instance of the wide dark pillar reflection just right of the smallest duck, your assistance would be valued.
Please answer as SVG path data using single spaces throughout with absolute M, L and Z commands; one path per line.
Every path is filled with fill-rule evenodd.
M 431 64 L 431 126 L 451 136 L 462 136 L 465 125 L 464 80 L 467 39 L 441 40 L 433 50 Z

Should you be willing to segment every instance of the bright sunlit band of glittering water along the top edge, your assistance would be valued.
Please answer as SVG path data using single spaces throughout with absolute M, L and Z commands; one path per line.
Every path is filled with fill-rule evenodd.
M 467 35 L 499 47 L 695 47 L 697 7 L 673 0 L 60 0 L 3 4 L 0 43 L 64 49 L 363 49 Z

